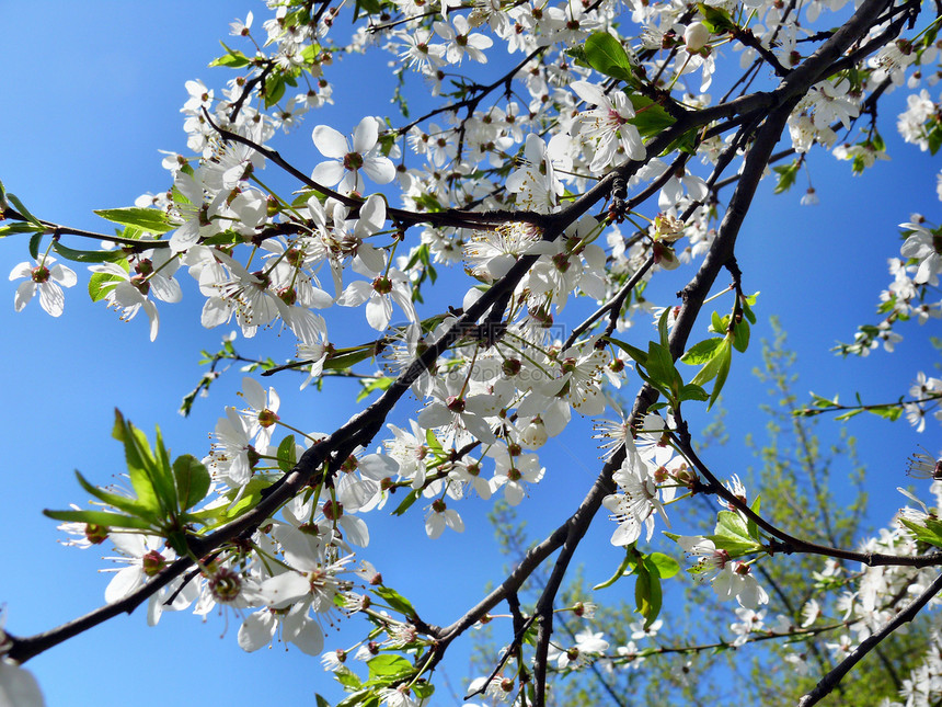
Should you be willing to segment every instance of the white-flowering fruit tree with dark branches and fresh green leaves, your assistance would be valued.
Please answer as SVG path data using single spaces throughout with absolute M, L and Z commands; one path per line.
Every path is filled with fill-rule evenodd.
M 349 693 L 345 707 L 423 704 L 434 702 L 435 669 L 452 643 L 506 605 L 503 650 L 471 676 L 466 699 L 544 705 L 553 675 L 629 671 L 656 652 L 634 641 L 657 630 L 662 580 L 680 563 L 651 544 L 686 508 L 709 514 L 709 527 L 668 532 L 674 554 L 694 558 L 689 572 L 742 609 L 724 647 L 802 646 L 829 631 L 840 660 L 817 661 L 816 684 L 801 698 L 817 703 L 938 601 L 937 512 L 914 495 L 862 548 L 848 532 L 797 533 L 755 489 L 711 467 L 689 421 L 713 408 L 750 345 L 757 296 L 736 247 L 762 178 L 788 191 L 814 150 L 850 161 L 854 174 L 885 158 L 877 114 L 895 89 L 911 93 L 897 122 L 903 138 L 933 153 L 942 145 L 942 112 L 922 88 L 940 75 L 942 11 L 845 4 L 272 0 L 271 18 L 232 24 L 233 46 L 214 61 L 232 72 L 223 89 L 187 83 L 188 152 L 164 160 L 166 191 L 95 212 L 114 233 L 49 223 L 0 187 L 0 235 L 31 254 L 10 275 L 18 310 L 37 299 L 62 315 L 65 289 L 79 280 L 71 261 L 88 269 L 93 301 L 122 319 L 143 312 L 153 340 L 159 311 L 183 297 L 183 267 L 198 285 L 205 327 L 297 339 L 292 361 L 249 362 L 254 370 L 301 369 L 313 395 L 332 376 L 354 377 L 371 399 L 333 431 L 311 433 L 303 411 L 283 409 L 274 387 L 246 377 L 209 454 L 176 458 L 159 433 L 151 440 L 117 412 L 130 489 L 79 475 L 92 508 L 47 515 L 74 545 L 112 543 L 127 567 L 100 609 L 36 636 L 2 634 L 8 702 L 42 702 L 19 664 L 147 604 L 152 624 L 164 611 L 234 608 L 242 648 L 278 638 L 322 657 Z M 353 35 L 338 36 L 351 16 Z M 335 57 L 382 50 L 393 57 L 395 115 L 364 115 L 341 130 L 317 125 L 322 159 L 312 163 L 277 151 L 282 133 L 332 101 Z M 268 189 L 263 169 L 294 185 Z M 802 201 L 815 198 L 809 187 Z M 900 322 L 940 312 L 942 235 L 921 217 L 901 228 L 901 247 L 881 253 L 895 258 L 880 321 L 862 326 L 845 355 L 881 342 L 892 350 Z M 669 281 L 677 299 L 645 296 L 678 276 Z M 717 309 L 704 309 L 713 301 Z M 349 338 L 351 318 L 371 340 Z M 702 340 L 698 320 L 709 321 Z M 239 358 L 231 338 L 207 355 L 184 411 L 220 362 Z M 927 414 L 940 417 L 942 381 L 914 373 L 914 389 L 893 402 L 814 397 L 794 413 L 905 415 L 921 431 Z M 393 424 L 393 410 L 407 422 Z M 437 538 L 464 529 L 469 495 L 525 508 L 530 489 L 558 472 L 541 447 L 582 417 L 599 419 L 595 482 L 451 624 L 428 623 L 388 586 L 368 549 L 355 558 L 382 511 L 424 513 Z M 910 472 L 942 481 L 942 463 L 918 453 Z M 719 511 L 701 504 L 711 497 Z M 563 601 L 563 586 L 593 523 L 611 523 L 611 544 L 624 548 L 599 588 L 634 582 L 636 639 L 588 628 L 571 636 L 556 616 L 591 613 Z M 817 567 L 816 589 L 766 625 L 760 607 L 783 556 Z M 323 625 L 334 620 L 359 622 L 355 650 L 325 645 Z M 924 635 L 907 666 L 907 704 L 942 692 L 938 636 Z M 809 670 L 801 648 L 790 655 Z

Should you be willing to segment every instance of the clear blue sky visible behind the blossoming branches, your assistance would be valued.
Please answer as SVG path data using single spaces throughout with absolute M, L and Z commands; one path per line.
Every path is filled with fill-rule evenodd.
M 0 61 L 8 67 L 0 79 L 5 103 L 0 112 L 0 179 L 42 218 L 106 229 L 93 208 L 129 205 L 143 192 L 166 187 L 158 149 L 185 150 L 179 113 L 186 99 L 184 81 L 203 78 L 218 84 L 228 78 L 206 68 L 220 52 L 218 41 L 227 39 L 228 22 L 237 15 L 244 16 L 249 9 L 262 14 L 264 8 L 248 1 L 200 3 L 198 12 L 193 3 L 177 1 L 39 7 L 4 7 L 4 25 L 15 30 L 8 31 L 0 45 Z M 359 119 L 354 109 L 363 101 L 375 102 L 367 109 L 370 113 L 390 110 L 383 91 L 367 96 L 360 88 L 359 78 L 348 77 L 346 83 L 338 78 L 338 105 L 323 117 L 309 115 L 279 149 L 296 163 L 313 167 L 320 156 L 310 130 L 318 122 L 348 132 Z M 354 109 L 344 109 L 345 99 Z M 875 321 L 877 294 L 888 282 L 885 259 L 898 254 L 896 224 L 908 220 L 910 210 L 939 220 L 938 162 L 908 146 L 894 149 L 899 140 L 893 113 L 883 115 L 888 118 L 883 132 L 893 161 L 851 180 L 847 163 L 818 155 L 812 159 L 812 175 L 822 204 L 797 205 L 804 178 L 799 191 L 784 196 L 772 196 L 767 185 L 740 237 L 737 256 L 745 286 L 762 293 L 757 313 L 760 319 L 779 315 L 799 352 L 797 390 L 840 392 L 846 400 L 861 390 L 866 400 L 892 400 L 908 388 L 917 369 L 928 373 L 935 361 L 931 349 L 919 343 L 926 331 L 916 324 L 901 330 L 907 340 L 893 355 L 880 351 L 864 360 L 840 361 L 828 351 L 837 340 L 850 340 L 858 323 Z M 723 196 L 728 198 L 728 193 Z M 25 240 L 0 243 L 0 270 L 9 272 L 26 259 Z M 674 293 L 690 274 L 689 269 L 670 273 L 652 292 Z M 83 273 L 79 276 L 59 320 L 43 312 L 38 303 L 15 313 L 13 283 L 0 296 L 0 391 L 8 410 L 0 433 L 5 460 L 0 602 L 7 605 L 7 628 L 19 635 L 51 628 L 103 602 L 108 578 L 95 572 L 106 566 L 97 559 L 100 552 L 62 548 L 55 523 L 41 511 L 84 502 L 73 469 L 100 483 L 122 471 L 119 446 L 110 436 L 114 408 L 149 434 L 159 423 L 175 454 L 202 456 L 207 433 L 222 406 L 233 402 L 241 383 L 239 374 L 225 377 L 208 400 L 197 401 L 192 418 L 180 418 L 180 399 L 199 378 L 199 349 L 215 351 L 226 331 L 199 326 L 199 303 L 191 287 L 184 303 L 162 308 L 160 335 L 151 344 L 143 315 L 119 323 L 114 312 L 89 301 Z M 705 327 L 704 321 L 701 334 Z M 929 327 L 931 333 L 942 333 L 938 320 Z M 642 333 L 634 335 L 646 338 Z M 724 395 L 734 444 L 711 452 L 724 471 L 743 472 L 750 464 L 735 442 L 756 431 L 756 404 L 765 402 L 763 385 L 749 374 L 758 364 L 763 335 L 770 330 L 760 323 L 749 352 L 734 361 Z M 243 346 L 275 358 L 291 353 L 287 340 L 273 337 Z M 329 381 L 322 398 L 295 396 L 294 378 L 274 385 L 295 406 L 295 422 L 309 430 L 332 430 L 357 409 L 354 386 L 346 381 Z M 398 412 L 395 421 L 405 412 Z M 938 451 L 938 425 L 930 422 L 920 436 L 903 422 L 892 425 L 861 417 L 852 424 L 861 455 L 871 465 L 869 490 L 877 499 L 871 517 L 880 523 L 899 505 L 895 487 L 905 483 L 906 457 L 917 444 Z M 589 422 L 579 425 L 581 431 L 551 442 L 544 454 L 547 480 L 521 506 L 533 537 L 561 523 L 597 474 L 597 452 L 582 441 Z M 400 558 L 382 567 L 387 582 L 417 606 L 428 607 L 421 608 L 426 620 L 450 623 L 480 598 L 489 581 L 501 579 L 502 560 L 494 557 L 486 508 L 472 502 L 460 509 L 468 532 L 449 533 L 436 543 L 425 538 L 421 513 L 395 522 L 376 518 L 375 541 L 364 557 Z M 597 549 L 581 556 L 598 563 L 587 573 L 589 581 L 607 578 L 620 558 L 608 546 L 611 528 L 605 522 L 599 525 L 593 535 Z M 320 665 L 297 650 L 285 653 L 276 643 L 272 650 L 243 653 L 236 645 L 239 622 L 230 615 L 220 640 L 225 622 L 215 615 L 206 626 L 187 613 L 165 615 L 159 628 L 149 629 L 138 612 L 68 641 L 28 666 L 50 706 L 164 705 L 166 689 L 186 695 L 187 703 L 277 697 L 309 704 L 314 689 L 336 694 Z M 331 631 L 328 645 L 335 645 Z M 463 677 L 462 655 L 459 650 L 459 658 L 446 666 L 455 685 Z M 446 697 L 436 704 L 450 702 Z

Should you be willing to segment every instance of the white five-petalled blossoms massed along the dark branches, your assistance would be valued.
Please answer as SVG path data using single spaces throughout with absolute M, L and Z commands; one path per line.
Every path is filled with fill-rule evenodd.
M 348 10 L 267 4 L 272 16 L 261 24 L 250 13 L 230 27 L 250 54 L 227 46 L 214 62 L 238 76 L 223 88 L 186 83 L 181 113 L 187 153 L 163 159 L 168 189 L 142 195 L 133 208 L 100 212 L 120 229 L 103 236 L 108 248 L 91 255 L 64 246 L 61 239 L 76 232 L 15 212 L 18 227 L 10 233 L 33 235 L 35 262 L 16 265 L 10 280 L 23 281 L 14 294 L 18 311 L 38 294 L 41 307 L 58 317 L 64 288 L 76 285 L 78 275 L 57 258 L 89 262 L 91 298 L 123 320 L 143 311 L 154 339 L 159 307 L 183 298 L 185 273 L 199 294 L 204 327 L 234 326 L 244 338 L 266 329 L 290 332 L 298 361 L 289 366 L 303 365 L 309 374 L 302 387 L 342 373 L 363 378 L 365 395 L 384 391 L 379 403 L 341 427 L 343 434 L 326 435 L 289 426 L 277 391 L 246 378 L 243 402 L 226 408 L 211 435 L 203 461 L 211 492 L 193 501 L 200 508 L 174 506 L 172 523 L 160 526 L 169 528 L 163 535 L 138 523 L 130 527 L 141 532 L 110 536 L 124 567 L 107 585 L 108 602 L 139 592 L 175 561 L 198 560 L 193 577 L 177 577 L 152 594 L 151 623 L 162 611 L 193 606 L 206 615 L 231 607 L 243 619 L 238 640 L 245 650 L 279 637 L 320 655 L 325 624 L 368 615 L 376 631 L 368 641 L 324 654 L 338 673 L 348 652 L 369 660 L 382 646 L 387 653 L 411 651 L 417 663 L 420 651 L 436 642 L 423 637 L 434 631 L 382 586 L 375 570 L 354 565 L 353 546 L 369 543 L 364 516 L 386 508 L 393 493 L 406 495 L 398 513 L 421 500 L 429 538 L 461 533 L 464 499 L 524 503 L 554 474 L 543 451 L 549 441 L 573 420 L 619 408 L 611 394 L 641 379 L 650 384 L 647 392 L 664 396 L 670 414 L 665 422 L 647 413 L 634 426 L 602 423 L 609 459 L 623 458 L 611 476 L 616 490 L 602 500 L 613 522 L 612 545 L 634 551 L 652 539 L 658 517 L 669 525 L 667 506 L 679 500 L 678 490 L 702 490 L 689 449 L 685 457 L 675 446 L 683 427 L 676 421 L 681 406 L 715 401 L 733 350 L 748 346 L 755 317 L 731 259 L 736 233 L 722 251 L 736 280 L 724 290 L 735 292 L 733 312 L 725 319 L 714 313 L 715 337 L 688 351 L 686 361 L 703 365 L 691 380 L 685 383 L 675 366 L 680 352 L 674 344 L 687 337 L 679 327 L 670 333 L 677 309 L 658 309 L 659 344 L 646 343 L 654 337 L 648 327 L 637 342 L 642 347 L 613 334 L 650 321 L 654 306 L 645 293 L 653 277 L 683 265 L 692 275 L 689 265 L 715 250 L 719 230 L 735 220 L 717 218 L 719 184 L 762 171 L 749 160 L 770 112 L 781 112 L 780 125 L 801 161 L 820 147 L 851 161 L 857 173 L 885 157 L 882 140 L 875 128 L 858 145 L 843 142 L 839 133 L 868 113 L 875 123 L 870 99 L 905 85 L 914 93 L 898 118 L 904 139 L 933 152 L 942 144 L 939 103 L 920 88 L 923 79 L 933 80 L 923 70 L 938 58 L 934 23 L 904 39 L 894 33 L 906 18 L 874 16 L 854 38 L 855 48 L 841 48 L 831 68 L 817 67 L 811 77 L 793 71 L 806 56 L 817 60 L 813 45 L 841 41 L 840 33 L 815 34 L 811 26 L 829 30 L 829 15 L 820 23 L 818 15 L 840 10 L 842 0 L 797 10 L 772 0 L 696 8 L 389 0 L 357 3 L 349 37 L 338 36 L 346 23 L 336 22 Z M 865 42 L 882 32 L 894 34 L 882 48 Z M 364 96 L 351 125 L 311 128 L 312 155 L 320 158 L 303 166 L 283 158 L 274 148 L 280 134 L 333 102 L 335 56 L 374 47 L 393 57 L 400 115 L 364 115 L 375 110 Z M 862 56 L 868 50 L 872 57 Z M 733 53 L 742 76 L 717 70 L 720 58 Z M 496 81 L 480 80 L 483 65 L 501 72 Z M 416 80 L 426 88 L 416 91 Z M 724 98 L 716 101 L 708 91 Z M 406 98 L 414 93 L 423 109 L 429 95 L 445 102 L 411 119 L 415 109 Z M 297 180 L 295 193 L 280 194 L 262 180 L 272 164 Z M 21 208 L 12 196 L 8 203 L 2 187 L 0 197 L 4 213 L 9 203 Z M 809 189 L 803 201 L 814 198 Z M 865 354 L 881 343 L 892 351 L 901 338 L 893 330 L 896 321 L 924 322 L 942 313 L 942 304 L 928 299 L 942 272 L 940 229 L 917 217 L 901 228 L 900 256 L 891 261 L 894 281 L 881 306 L 886 317 L 848 351 Z M 36 243 L 44 238 L 48 248 L 39 255 Z M 438 296 L 439 269 L 446 267 L 451 272 L 440 281 L 460 288 L 460 301 Z M 690 293 L 683 292 L 687 307 Z M 594 313 L 561 326 L 564 312 L 584 309 Z M 380 369 L 363 373 L 367 361 Z M 711 385 L 712 395 L 704 388 Z M 387 415 L 406 390 L 418 402 L 405 422 L 392 424 Z M 920 373 L 910 392 L 914 399 L 900 406 L 914 426 L 922 431 L 933 410 L 942 421 L 942 381 Z M 286 431 L 292 434 L 282 436 Z M 376 435 L 381 438 L 374 441 Z M 368 444 L 377 445 L 374 452 L 363 448 Z M 317 458 L 317 468 L 306 458 Z M 185 476 L 188 464 L 174 472 Z M 205 523 L 211 533 L 241 518 L 301 474 L 303 488 L 279 499 L 272 517 L 206 557 L 186 554 L 196 525 Z M 746 497 L 738 478 L 728 491 Z M 137 508 L 119 494 L 105 498 L 118 509 Z M 184 515 L 186 522 L 177 523 Z M 906 528 L 928 516 L 908 511 L 872 547 L 916 552 Z M 731 643 L 742 646 L 762 630 L 793 632 L 781 617 L 776 628 L 766 627 L 765 612 L 757 611 L 769 596 L 751 570 L 765 551 L 765 538 L 749 526 L 754 520 L 742 504 L 727 505 L 720 518 L 730 534 L 673 537 L 698 558 L 694 573 L 721 600 L 739 604 Z M 90 545 L 107 535 L 93 525 L 65 529 Z M 742 551 L 731 555 L 734 536 Z M 846 652 L 889 617 L 893 609 L 881 597 L 907 585 L 923 588 L 928 575 L 900 568 L 862 571 L 841 607 L 853 639 L 846 636 L 835 652 Z M 367 586 L 382 588 L 378 595 L 404 619 L 371 609 L 369 595 L 357 591 Z M 807 626 L 818 608 L 807 605 Z M 543 648 L 559 670 L 604 660 L 636 668 L 645 654 L 634 640 L 658 626 L 640 623 L 614 655 L 604 635 L 589 628 L 575 634 L 573 645 Z M 10 672 L 5 662 L 0 668 Z M 931 675 L 920 674 L 914 684 L 937 675 L 926 671 Z M 689 672 L 688 662 L 678 663 L 677 680 L 688 680 Z M 491 683 L 482 689 L 497 695 L 516 685 L 510 677 Z M 377 687 L 374 702 L 418 705 L 426 697 L 416 680 L 402 680 Z

